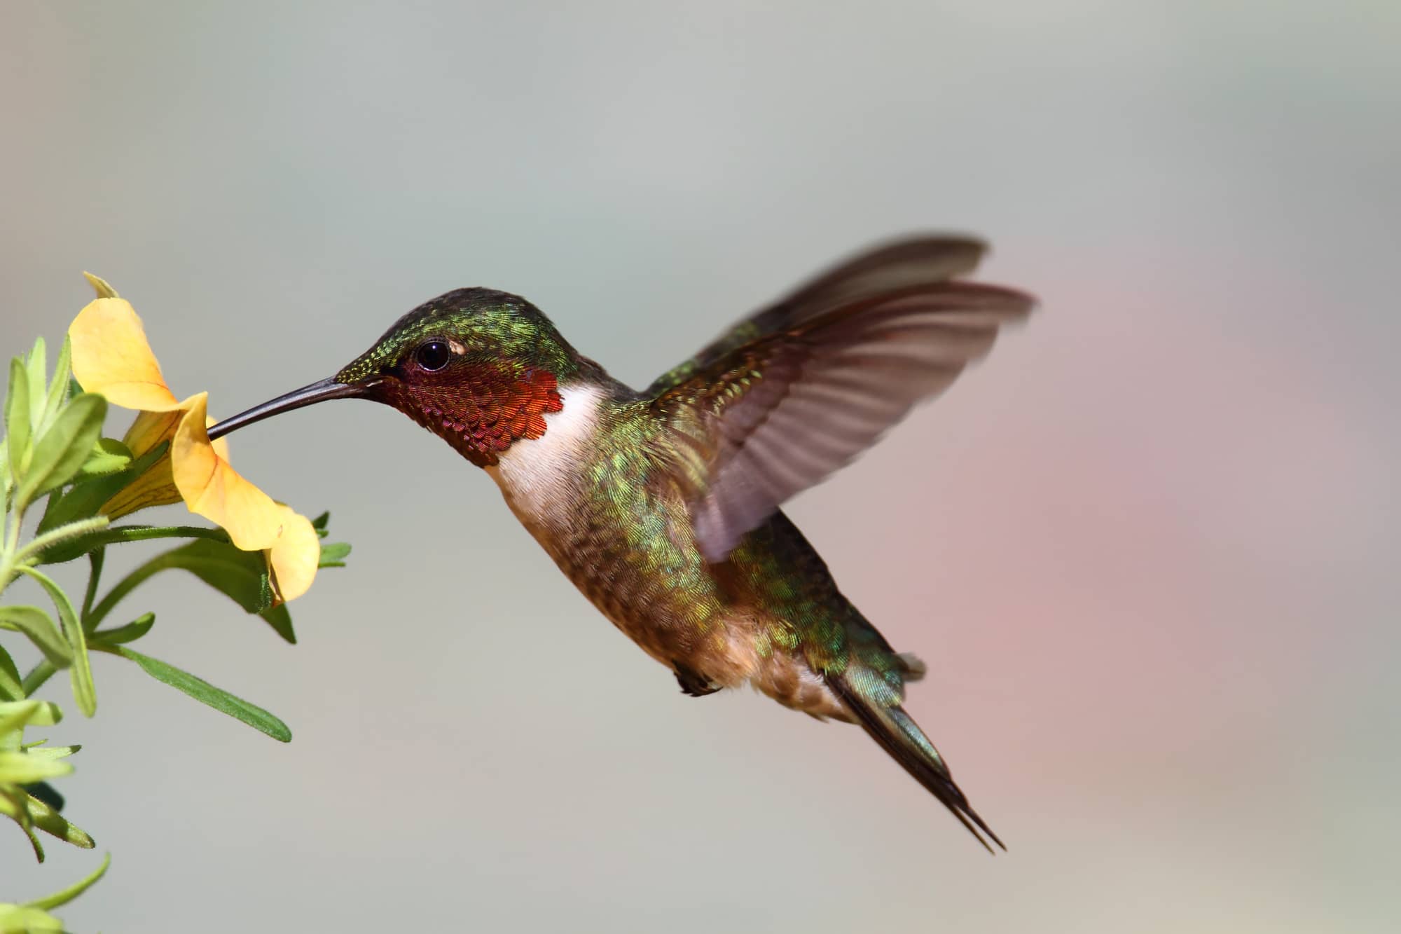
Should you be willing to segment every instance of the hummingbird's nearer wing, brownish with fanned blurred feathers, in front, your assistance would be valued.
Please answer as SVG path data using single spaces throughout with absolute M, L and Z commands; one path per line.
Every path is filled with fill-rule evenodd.
M 905 272 L 860 265 L 773 306 L 780 330 L 733 348 L 722 338 L 696 358 L 705 366 L 653 398 L 709 561 L 723 561 L 789 496 L 947 388 L 1033 306 L 1020 292 L 971 282 L 880 290 L 874 283 L 908 282 Z M 848 269 L 857 271 L 841 275 Z

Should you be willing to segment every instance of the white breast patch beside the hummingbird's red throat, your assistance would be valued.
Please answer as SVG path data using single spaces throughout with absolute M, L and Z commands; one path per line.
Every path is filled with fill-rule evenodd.
M 563 408 L 545 414 L 544 435 L 523 438 L 486 468 L 528 527 L 548 524 L 551 516 L 570 509 L 579 464 L 587 459 L 587 446 L 595 436 L 602 390 L 570 386 L 559 390 L 559 398 Z

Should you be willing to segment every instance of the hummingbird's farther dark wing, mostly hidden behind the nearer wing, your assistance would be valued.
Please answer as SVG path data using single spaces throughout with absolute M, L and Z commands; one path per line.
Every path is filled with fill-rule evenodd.
M 693 358 L 657 377 L 647 387 L 647 395 L 660 395 L 715 366 L 726 353 L 817 317 L 842 302 L 936 285 L 972 272 L 986 250 L 985 243 L 972 237 L 923 236 L 897 240 L 852 257 L 737 323 Z

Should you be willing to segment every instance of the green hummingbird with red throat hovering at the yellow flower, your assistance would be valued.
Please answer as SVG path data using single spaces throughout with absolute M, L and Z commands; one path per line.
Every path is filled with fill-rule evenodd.
M 1021 292 L 962 278 L 985 251 L 918 236 L 855 255 L 642 391 L 525 299 L 455 289 L 335 376 L 209 435 L 332 398 L 396 408 L 485 470 L 560 571 L 685 694 L 751 684 L 859 725 L 991 853 L 988 840 L 1006 847 L 902 707 L 925 665 L 891 648 L 780 510 L 1031 311 Z

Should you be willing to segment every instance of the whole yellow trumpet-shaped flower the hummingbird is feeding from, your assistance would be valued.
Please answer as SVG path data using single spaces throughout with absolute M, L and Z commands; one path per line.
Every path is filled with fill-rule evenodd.
M 97 276 L 88 279 L 99 297 L 69 327 L 73 377 L 84 391 L 139 410 L 123 439 L 134 457 L 170 442 L 165 454 L 101 512 L 115 519 L 184 501 L 191 512 L 221 526 L 238 548 L 263 553 L 279 602 L 305 593 L 321 560 L 311 522 L 228 466 L 227 442 L 210 442 L 206 433 L 213 424 L 206 412 L 207 393 L 177 401 L 130 303 Z

